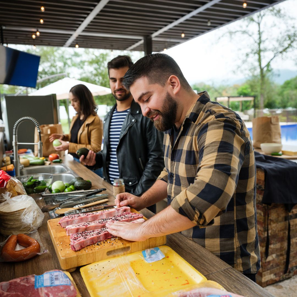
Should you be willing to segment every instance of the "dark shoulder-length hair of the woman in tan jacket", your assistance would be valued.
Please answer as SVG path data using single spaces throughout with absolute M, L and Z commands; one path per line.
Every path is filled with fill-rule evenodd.
M 85 119 L 91 114 L 97 114 L 98 107 L 91 91 L 85 85 L 76 85 L 72 87 L 69 92 L 79 100 L 80 113 L 84 115 Z

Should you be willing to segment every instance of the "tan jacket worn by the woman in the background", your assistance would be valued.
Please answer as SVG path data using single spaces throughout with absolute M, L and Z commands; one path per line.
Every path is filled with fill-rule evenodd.
M 78 115 L 72 118 L 70 124 L 70 133 L 64 134 L 64 141 L 70 141 L 71 129 Z M 69 143 L 68 152 L 76 152 L 79 148 L 89 148 L 94 152 L 101 150 L 103 136 L 103 123 L 98 115 L 89 115 L 78 131 L 78 144 Z

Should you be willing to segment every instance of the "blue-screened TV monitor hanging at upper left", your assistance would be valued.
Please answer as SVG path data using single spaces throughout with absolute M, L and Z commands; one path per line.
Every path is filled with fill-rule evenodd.
M 36 87 L 40 56 L 0 45 L 0 84 Z

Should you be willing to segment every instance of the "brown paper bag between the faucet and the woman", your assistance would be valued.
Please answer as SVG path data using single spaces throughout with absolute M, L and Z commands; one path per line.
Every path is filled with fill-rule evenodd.
M 65 152 L 62 151 L 56 151 L 53 146 L 52 142 L 49 142 L 49 136 L 53 133 L 57 134 L 63 134 L 62 126 L 61 124 L 50 124 L 50 125 L 40 125 L 41 130 L 41 141 L 43 143 L 42 151 L 43 151 L 43 157 L 48 157 L 51 153 L 58 153 L 60 157 L 62 157 Z M 39 142 L 39 133 L 37 131 L 37 128 L 35 128 L 35 134 L 34 134 L 34 142 Z M 34 154 L 38 155 L 38 146 L 34 146 Z

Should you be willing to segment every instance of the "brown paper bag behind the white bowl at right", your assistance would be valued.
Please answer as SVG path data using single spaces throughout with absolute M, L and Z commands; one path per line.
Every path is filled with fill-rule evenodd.
M 252 120 L 252 142 L 254 148 L 260 148 L 260 144 L 281 144 L 281 126 L 279 117 L 262 116 Z

